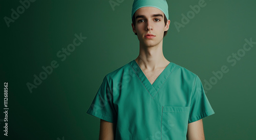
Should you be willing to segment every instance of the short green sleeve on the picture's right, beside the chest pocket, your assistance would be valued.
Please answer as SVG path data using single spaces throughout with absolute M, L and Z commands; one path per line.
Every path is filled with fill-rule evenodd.
M 190 103 L 188 123 L 196 122 L 215 113 L 205 95 L 202 82 L 198 76 L 195 78 Z

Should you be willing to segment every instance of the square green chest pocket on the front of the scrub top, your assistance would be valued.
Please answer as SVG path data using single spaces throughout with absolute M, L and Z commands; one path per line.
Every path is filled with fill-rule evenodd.
M 161 139 L 186 139 L 189 109 L 189 106 L 162 106 Z

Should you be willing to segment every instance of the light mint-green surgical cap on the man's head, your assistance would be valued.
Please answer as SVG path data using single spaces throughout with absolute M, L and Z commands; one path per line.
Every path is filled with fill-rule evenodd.
M 132 9 L 132 18 L 134 13 L 142 7 L 158 8 L 165 14 L 167 20 L 169 19 L 168 5 L 165 0 L 134 0 L 133 9 Z

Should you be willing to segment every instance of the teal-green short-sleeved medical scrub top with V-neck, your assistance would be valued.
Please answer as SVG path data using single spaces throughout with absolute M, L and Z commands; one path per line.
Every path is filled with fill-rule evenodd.
M 199 77 L 170 62 L 153 84 L 135 60 L 106 74 L 88 114 L 116 124 L 116 139 L 186 139 L 214 114 Z

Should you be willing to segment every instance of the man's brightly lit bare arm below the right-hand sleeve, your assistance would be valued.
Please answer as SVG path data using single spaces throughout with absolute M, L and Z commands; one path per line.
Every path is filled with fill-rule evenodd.
M 188 124 L 187 139 L 188 140 L 204 140 L 205 139 L 202 119 Z

